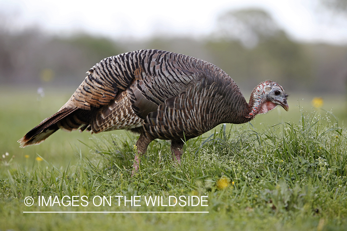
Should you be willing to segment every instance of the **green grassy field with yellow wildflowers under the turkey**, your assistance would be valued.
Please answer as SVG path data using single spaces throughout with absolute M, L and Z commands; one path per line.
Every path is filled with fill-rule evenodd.
M 347 229 L 347 113 L 341 96 L 324 96 L 323 109 L 312 109 L 316 96 L 292 95 L 288 113 L 277 108 L 249 124 L 220 125 L 186 142 L 180 166 L 171 160 L 169 142 L 152 142 L 131 177 L 136 137 L 124 131 L 58 131 L 40 145 L 19 148 L 16 141 L 72 92 L 39 97 L 33 90 L 1 89 L 0 230 Z M 32 206 L 25 205 L 28 196 Z M 79 206 L 62 204 L 72 196 Z M 111 206 L 96 206 L 98 196 L 111 196 Z M 124 205 L 122 197 L 118 204 L 116 196 L 139 201 Z M 147 206 L 149 196 L 162 199 L 159 206 Z M 184 204 L 180 196 L 185 206 L 178 204 Z M 200 204 L 188 206 L 188 198 Z

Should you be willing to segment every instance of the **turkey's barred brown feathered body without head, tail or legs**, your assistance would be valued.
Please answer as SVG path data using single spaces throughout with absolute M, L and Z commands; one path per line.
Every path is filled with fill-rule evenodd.
M 98 81 L 104 86 L 98 86 Z M 88 91 L 91 88 L 94 92 Z M 153 139 L 180 140 L 183 133 L 189 139 L 223 122 L 248 121 L 242 113 L 248 104 L 243 100 L 231 105 L 233 93 L 234 98 L 242 96 L 235 82 L 211 63 L 171 52 L 141 50 L 94 66 L 63 107 L 104 106 L 87 126 L 94 133 L 139 128 Z

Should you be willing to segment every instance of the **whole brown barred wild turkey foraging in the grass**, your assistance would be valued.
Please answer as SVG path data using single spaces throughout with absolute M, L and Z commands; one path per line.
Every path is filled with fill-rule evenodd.
M 276 82 L 261 82 L 247 103 L 234 80 L 217 66 L 167 51 L 108 57 L 87 74 L 56 114 L 18 141 L 21 147 L 39 144 L 59 128 L 92 133 L 126 129 L 140 134 L 136 171 L 139 156 L 154 139 L 171 140 L 179 162 L 184 137 L 199 136 L 221 123 L 246 123 L 277 105 L 289 108 L 288 95 Z

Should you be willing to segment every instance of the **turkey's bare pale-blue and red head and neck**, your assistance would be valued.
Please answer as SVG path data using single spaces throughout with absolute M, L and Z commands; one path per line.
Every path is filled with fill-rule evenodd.
M 257 114 L 269 112 L 278 105 L 288 111 L 287 98 L 288 95 L 277 82 L 271 80 L 261 82 L 252 91 L 249 99 L 251 111 L 247 118 L 254 118 Z

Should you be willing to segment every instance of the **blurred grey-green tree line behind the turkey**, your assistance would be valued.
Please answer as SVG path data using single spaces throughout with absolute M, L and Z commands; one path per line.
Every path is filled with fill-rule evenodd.
M 11 33 L 0 27 L 0 82 L 13 85 L 77 87 L 105 57 L 144 48 L 183 53 L 214 63 L 243 89 L 278 81 L 291 92 L 345 93 L 347 46 L 290 39 L 259 9 L 221 15 L 209 37 L 153 37 L 112 41 L 87 34 L 50 36 L 39 29 Z

